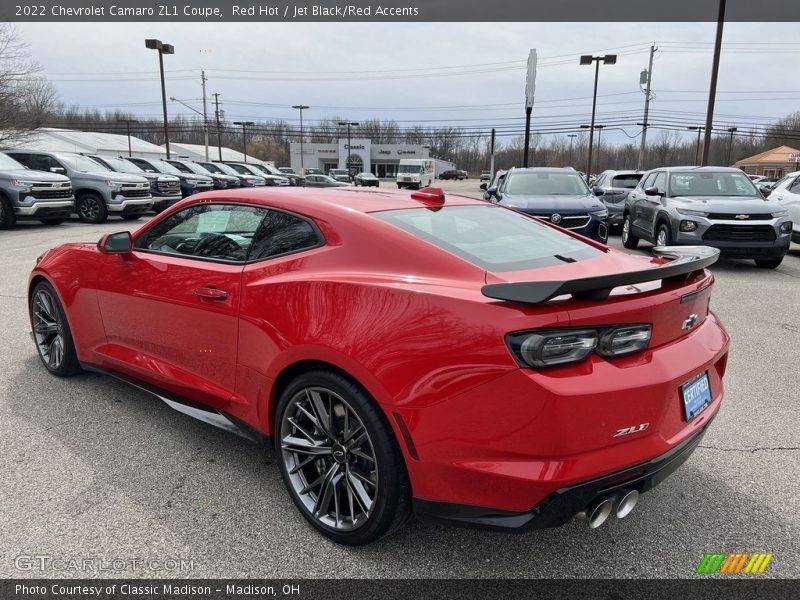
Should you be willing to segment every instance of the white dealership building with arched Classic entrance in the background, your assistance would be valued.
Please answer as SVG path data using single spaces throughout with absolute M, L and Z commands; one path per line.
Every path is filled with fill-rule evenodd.
M 304 143 L 301 160 L 300 142 L 289 144 L 289 165 L 295 171 L 300 168 L 322 169 L 327 173 L 330 169 L 346 169 L 347 157 L 350 166 L 358 171 L 368 171 L 381 178 L 393 178 L 397 175 L 397 167 L 404 158 L 430 158 L 428 146 L 414 144 L 373 144 L 366 138 L 351 138 L 348 146 L 347 138 L 333 143 Z M 454 169 L 453 163 L 436 160 L 436 173 Z

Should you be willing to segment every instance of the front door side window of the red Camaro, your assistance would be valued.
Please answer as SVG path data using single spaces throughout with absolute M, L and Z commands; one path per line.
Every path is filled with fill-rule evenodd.
M 164 219 L 136 242 L 141 250 L 244 262 L 267 209 L 196 204 Z

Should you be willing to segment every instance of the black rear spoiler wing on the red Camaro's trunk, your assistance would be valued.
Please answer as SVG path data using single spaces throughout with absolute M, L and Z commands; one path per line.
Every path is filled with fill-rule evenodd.
M 492 283 L 483 286 L 481 292 L 488 298 L 523 304 L 541 304 L 565 294 L 583 300 L 605 300 L 615 287 L 681 277 L 704 269 L 719 258 L 719 250 L 708 246 L 661 246 L 653 248 L 653 254 L 672 260 L 642 271 L 583 279 Z

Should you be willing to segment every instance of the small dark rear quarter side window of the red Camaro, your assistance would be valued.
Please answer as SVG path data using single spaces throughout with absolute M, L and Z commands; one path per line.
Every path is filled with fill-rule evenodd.
M 268 209 L 266 213 L 253 238 L 248 260 L 308 250 L 324 243 L 322 235 L 309 220 L 280 210 Z

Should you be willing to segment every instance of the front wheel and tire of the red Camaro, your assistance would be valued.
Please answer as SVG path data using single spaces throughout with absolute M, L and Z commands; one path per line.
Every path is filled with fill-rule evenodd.
M 33 288 L 29 310 L 36 353 L 45 369 L 58 377 L 80 373 L 67 315 L 52 285 L 41 281 Z

